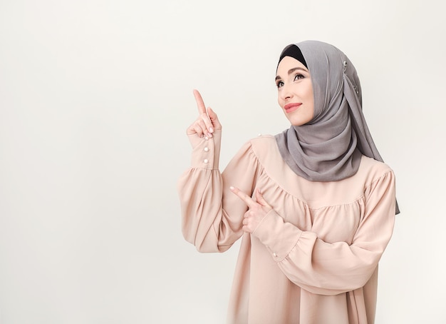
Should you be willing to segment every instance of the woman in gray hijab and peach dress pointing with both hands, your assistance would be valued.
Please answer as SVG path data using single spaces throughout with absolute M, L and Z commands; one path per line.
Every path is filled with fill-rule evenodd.
M 201 252 L 242 237 L 228 323 L 374 323 L 378 261 L 399 211 L 356 69 L 336 47 L 304 41 L 282 51 L 276 86 L 291 127 L 248 141 L 223 173 L 222 126 L 194 91 L 183 235 Z

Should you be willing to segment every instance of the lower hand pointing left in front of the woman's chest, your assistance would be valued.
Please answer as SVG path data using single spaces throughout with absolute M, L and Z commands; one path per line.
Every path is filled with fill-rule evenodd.
M 244 213 L 242 231 L 247 233 L 254 232 L 257 226 L 259 226 L 261 220 L 267 213 L 269 213 L 269 211 L 271 211 L 272 207 L 266 203 L 260 189 L 256 190 L 256 201 L 254 201 L 254 199 L 249 197 L 246 193 L 240 191 L 239 188 L 231 187 L 231 190 L 249 207 L 249 210 Z

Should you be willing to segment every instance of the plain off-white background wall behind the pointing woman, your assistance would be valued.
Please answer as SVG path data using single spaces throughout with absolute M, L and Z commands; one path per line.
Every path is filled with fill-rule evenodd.
M 0 323 L 224 323 L 238 245 L 184 241 L 192 89 L 219 114 L 224 167 L 288 127 L 281 49 L 353 61 L 402 213 L 377 323 L 446 323 L 441 1 L 0 1 Z

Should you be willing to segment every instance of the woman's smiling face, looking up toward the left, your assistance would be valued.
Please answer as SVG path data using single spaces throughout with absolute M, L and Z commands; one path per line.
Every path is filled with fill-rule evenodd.
M 301 126 L 313 119 L 313 84 L 304 64 L 285 56 L 277 67 L 276 86 L 279 106 L 291 125 Z

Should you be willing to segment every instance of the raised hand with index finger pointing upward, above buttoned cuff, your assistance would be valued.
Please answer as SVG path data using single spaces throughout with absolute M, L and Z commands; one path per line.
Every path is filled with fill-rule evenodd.
M 204 101 L 199 94 L 198 90 L 194 90 L 195 101 L 198 107 L 198 118 L 192 123 L 191 126 L 187 128 L 187 135 L 197 134 L 199 137 L 208 136 L 212 137 L 212 133 L 216 129 L 222 129 L 222 124 L 219 122 L 217 114 L 206 106 L 204 106 Z

